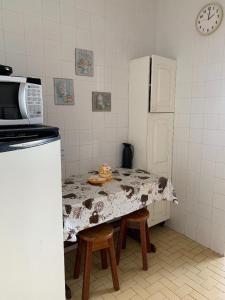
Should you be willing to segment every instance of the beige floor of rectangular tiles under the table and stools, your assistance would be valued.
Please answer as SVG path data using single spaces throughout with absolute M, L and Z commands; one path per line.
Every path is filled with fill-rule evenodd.
M 119 266 L 120 291 L 112 288 L 110 269 L 93 260 L 90 299 L 225 299 L 225 258 L 166 227 L 151 230 L 157 253 L 142 271 L 139 244 L 128 239 Z M 74 253 L 66 255 L 66 278 L 73 299 L 81 299 L 82 275 L 72 278 Z

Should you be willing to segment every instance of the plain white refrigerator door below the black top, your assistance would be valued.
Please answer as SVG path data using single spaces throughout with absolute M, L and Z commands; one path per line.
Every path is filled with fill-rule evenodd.
M 60 140 L 13 149 L 0 153 L 1 298 L 65 299 Z

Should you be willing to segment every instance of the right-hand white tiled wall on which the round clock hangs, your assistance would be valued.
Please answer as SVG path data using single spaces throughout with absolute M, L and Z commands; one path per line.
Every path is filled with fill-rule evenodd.
M 173 181 L 180 205 L 170 226 L 223 254 L 225 20 L 199 35 L 195 18 L 206 2 L 156 0 L 156 52 L 178 61 Z

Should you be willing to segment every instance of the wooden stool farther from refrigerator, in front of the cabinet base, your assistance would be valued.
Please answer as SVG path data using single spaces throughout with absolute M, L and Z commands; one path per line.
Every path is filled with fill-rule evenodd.
M 117 264 L 120 261 L 120 252 L 121 249 L 126 248 L 126 236 L 127 229 L 129 226 L 128 223 L 138 224 L 140 228 L 140 239 L 141 239 L 141 251 L 142 251 L 142 261 L 143 261 L 143 270 L 148 270 L 148 259 L 147 252 L 151 252 L 151 244 L 149 238 L 149 230 L 147 220 L 149 218 L 149 212 L 147 209 L 142 209 L 136 212 L 133 212 L 127 216 L 124 216 L 121 220 L 120 225 L 120 234 L 117 244 Z

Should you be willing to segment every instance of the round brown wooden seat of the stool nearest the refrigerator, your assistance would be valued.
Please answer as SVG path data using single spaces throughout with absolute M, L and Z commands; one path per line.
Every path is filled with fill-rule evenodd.
M 80 233 L 80 238 L 87 242 L 107 241 L 113 236 L 113 226 L 103 224 L 98 227 L 85 229 Z

